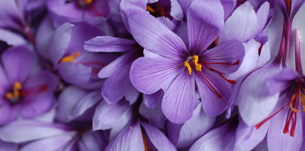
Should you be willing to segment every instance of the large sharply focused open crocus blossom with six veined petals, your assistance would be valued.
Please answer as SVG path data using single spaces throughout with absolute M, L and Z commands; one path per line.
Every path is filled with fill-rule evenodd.
M 226 109 L 231 94 L 229 82 L 235 81 L 222 73 L 236 71 L 244 56 L 244 47 L 237 40 L 206 50 L 223 27 L 220 2 L 194 1 L 187 15 L 189 50 L 181 38 L 153 16 L 140 13 L 128 19 L 135 40 L 157 54 L 156 58 L 141 57 L 132 64 L 132 84 L 146 94 L 163 89 L 162 111 L 177 124 L 193 115 L 195 79 L 206 114 L 215 116 Z

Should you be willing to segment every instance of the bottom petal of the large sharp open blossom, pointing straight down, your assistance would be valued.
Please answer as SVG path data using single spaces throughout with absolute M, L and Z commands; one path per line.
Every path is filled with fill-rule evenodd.
M 162 111 L 169 121 L 180 124 L 189 120 L 194 112 L 195 81 L 186 68 L 165 92 L 162 100 Z

